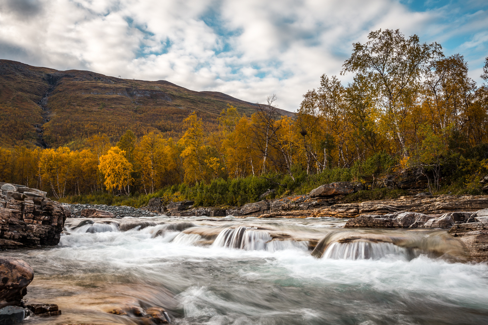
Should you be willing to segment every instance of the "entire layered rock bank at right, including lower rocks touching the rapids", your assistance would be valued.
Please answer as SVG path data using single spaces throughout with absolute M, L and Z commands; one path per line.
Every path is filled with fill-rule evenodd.
M 346 194 L 361 189 L 358 183 L 325 184 L 308 195 L 249 203 L 241 208 L 194 208 L 193 202 L 163 205 L 153 198 L 142 209 L 172 216 L 224 216 L 237 218 L 350 218 L 345 228 L 449 229 L 459 238 L 473 261 L 488 261 L 488 196 L 436 195 L 422 192 L 398 199 L 342 203 Z

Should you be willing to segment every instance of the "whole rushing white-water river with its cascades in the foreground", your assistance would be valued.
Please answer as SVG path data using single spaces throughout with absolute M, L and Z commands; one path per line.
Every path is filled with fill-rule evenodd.
M 7 252 L 25 298 L 62 315 L 26 324 L 488 324 L 488 267 L 444 230 L 342 229 L 333 218 L 68 219 L 58 247 Z

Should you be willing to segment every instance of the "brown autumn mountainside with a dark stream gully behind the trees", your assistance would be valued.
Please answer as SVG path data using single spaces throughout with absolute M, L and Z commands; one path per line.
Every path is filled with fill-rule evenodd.
M 257 104 L 218 92 L 196 92 L 169 81 L 104 76 L 91 71 L 34 67 L 0 60 L 0 146 L 82 146 L 92 134 L 113 141 L 131 129 L 141 136 L 159 130 L 179 137 L 181 122 L 192 111 L 208 131 L 231 104 L 252 115 Z M 283 115 L 294 113 L 280 110 Z

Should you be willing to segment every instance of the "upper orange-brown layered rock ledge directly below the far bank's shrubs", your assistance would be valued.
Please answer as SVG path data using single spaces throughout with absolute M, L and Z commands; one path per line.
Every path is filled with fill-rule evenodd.
M 331 190 L 333 189 L 333 190 Z M 398 199 L 343 203 L 346 194 L 358 191 L 357 183 L 325 184 L 307 195 L 289 196 L 276 200 L 262 200 L 238 208 L 193 207 L 192 201 L 170 202 L 164 205 L 162 198 L 152 198 L 146 207 L 140 208 L 168 216 L 255 216 L 258 218 L 307 218 L 336 217 L 355 218 L 363 214 L 384 215 L 400 211 L 418 212 L 434 217 L 447 212 L 474 212 L 488 208 L 488 195 L 435 195 L 420 193 Z

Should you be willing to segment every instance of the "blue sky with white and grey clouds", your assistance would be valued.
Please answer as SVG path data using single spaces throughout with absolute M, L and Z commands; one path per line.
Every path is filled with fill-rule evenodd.
M 352 43 L 380 28 L 464 55 L 482 83 L 486 0 L 0 0 L 0 58 L 249 102 L 276 94 L 294 112 L 322 74 L 339 75 Z

